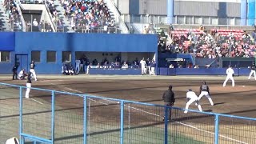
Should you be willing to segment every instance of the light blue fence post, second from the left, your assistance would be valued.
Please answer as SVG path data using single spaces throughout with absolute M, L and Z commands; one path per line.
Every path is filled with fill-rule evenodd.
M 55 92 L 51 91 L 51 140 L 54 144 L 54 123 L 55 123 Z

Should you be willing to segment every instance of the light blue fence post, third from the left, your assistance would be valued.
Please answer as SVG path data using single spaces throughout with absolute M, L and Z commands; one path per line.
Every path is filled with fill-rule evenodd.
M 83 97 L 83 144 L 87 142 L 87 96 Z

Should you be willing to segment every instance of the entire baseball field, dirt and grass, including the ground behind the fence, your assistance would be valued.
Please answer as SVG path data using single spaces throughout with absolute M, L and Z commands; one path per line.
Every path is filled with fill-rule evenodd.
M 11 80 L 0 76 L 1 82 L 26 86 L 26 80 Z M 186 91 L 199 94 L 199 86 L 205 80 L 210 86 L 214 106 L 208 99 L 201 99 L 206 112 L 231 114 L 255 118 L 256 87 L 253 79 L 235 77 L 235 86 L 228 82 L 222 87 L 223 76 L 103 76 L 86 75 L 40 75 L 33 87 L 66 91 L 76 94 L 91 94 L 106 98 L 118 98 L 136 102 L 163 104 L 162 94 L 173 86 L 175 107 L 186 106 Z M 23 90 L 23 94 L 25 93 Z M 0 89 L 0 140 L 18 134 L 17 88 L 1 86 Z M 31 90 L 30 99 L 23 99 L 23 131 L 50 139 L 51 93 Z M 83 130 L 83 98 L 71 94 L 56 94 L 55 98 L 55 143 L 81 143 Z M 124 107 L 125 143 L 162 143 L 164 109 L 158 106 L 143 106 L 126 103 Z M 198 110 L 194 104 L 190 109 Z M 120 103 L 118 101 L 89 98 L 87 100 L 87 136 L 89 143 L 119 143 Z M 183 110 L 173 110 L 174 120 L 169 122 L 169 143 L 214 143 L 214 116 Z M 256 121 L 220 118 L 220 143 L 256 142 Z M 13 128 L 10 128 L 13 127 Z M 27 141 L 28 142 L 28 141 Z

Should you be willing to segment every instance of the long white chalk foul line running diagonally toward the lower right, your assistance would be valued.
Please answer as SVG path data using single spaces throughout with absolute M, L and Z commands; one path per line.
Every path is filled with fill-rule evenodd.
M 71 89 L 71 88 L 68 88 L 68 87 L 65 87 L 65 88 L 66 88 L 66 89 L 69 89 L 69 90 L 76 91 L 76 92 L 78 92 L 78 93 L 82 93 L 82 91 L 80 91 L 80 90 L 74 90 L 74 89 Z M 90 98 L 88 98 L 88 99 L 90 99 Z M 94 101 L 94 102 L 97 102 L 96 100 L 93 100 L 93 99 L 90 99 L 90 100 L 92 100 L 92 101 Z M 108 99 L 103 99 L 103 100 L 112 102 L 112 101 L 110 101 L 110 100 L 108 100 Z M 109 104 L 104 103 L 104 102 L 99 102 L 99 103 L 102 103 L 103 105 L 109 105 Z M 124 106 L 126 106 L 126 105 L 124 105 Z M 134 110 L 142 111 L 142 112 L 144 112 L 144 113 L 146 113 L 146 114 L 151 114 L 151 115 L 154 115 L 154 116 L 157 116 L 157 117 L 162 117 L 162 116 L 160 116 L 160 115 L 158 115 L 158 114 L 153 114 L 153 113 L 150 113 L 150 112 L 148 112 L 148 111 L 140 110 L 140 109 L 135 108 L 135 107 L 132 107 L 132 106 L 128 106 L 128 107 L 130 107 L 131 109 L 134 109 Z M 164 118 L 164 117 L 162 117 L 162 118 Z M 174 121 L 174 122 L 177 122 L 177 121 Z M 189 126 L 190 128 L 193 128 L 193 129 L 195 129 L 195 130 L 203 131 L 203 132 L 206 132 L 206 133 L 209 133 L 209 134 L 214 134 L 213 132 L 210 132 L 210 131 L 207 131 L 207 130 L 202 130 L 202 129 L 199 129 L 198 127 L 191 126 L 191 125 L 186 124 L 186 123 L 182 123 L 182 122 L 177 122 L 177 123 L 178 123 L 178 124 L 181 124 L 181 125 L 183 125 L 183 126 Z M 219 137 L 222 137 L 222 138 L 229 139 L 230 141 L 239 142 L 239 143 L 242 143 L 242 144 L 248 144 L 248 143 L 246 143 L 246 142 L 238 141 L 238 140 L 236 140 L 236 139 L 234 139 L 234 138 L 226 137 L 226 136 L 224 136 L 224 135 L 222 135 L 222 134 L 218 134 L 218 136 L 219 136 Z

